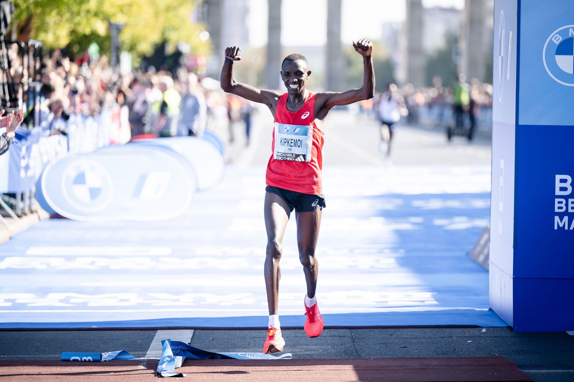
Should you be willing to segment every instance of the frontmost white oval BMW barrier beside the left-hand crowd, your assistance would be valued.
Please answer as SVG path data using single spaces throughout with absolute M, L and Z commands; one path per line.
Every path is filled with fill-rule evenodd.
M 166 220 L 187 209 L 195 190 L 193 170 L 177 153 L 124 145 L 49 164 L 37 199 L 75 220 Z

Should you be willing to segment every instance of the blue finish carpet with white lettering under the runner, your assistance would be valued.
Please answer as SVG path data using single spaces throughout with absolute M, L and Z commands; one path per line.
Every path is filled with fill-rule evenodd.
M 324 170 L 317 299 L 326 326 L 506 326 L 467 253 L 489 222 L 490 167 Z M 163 222 L 43 220 L 0 246 L 0 328 L 267 325 L 265 168 Z M 281 259 L 283 327 L 302 326 L 294 216 Z

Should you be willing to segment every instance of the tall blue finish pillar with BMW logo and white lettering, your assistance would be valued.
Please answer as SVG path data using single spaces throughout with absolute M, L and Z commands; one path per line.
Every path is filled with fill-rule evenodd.
M 574 330 L 574 7 L 498 0 L 494 24 L 490 304 Z

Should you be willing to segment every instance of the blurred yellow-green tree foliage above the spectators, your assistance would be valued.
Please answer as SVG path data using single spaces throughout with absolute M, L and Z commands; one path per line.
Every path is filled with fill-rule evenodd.
M 46 48 L 83 52 L 92 42 L 109 49 L 109 23 L 124 24 L 122 49 L 137 59 L 153 52 L 159 42 L 187 42 L 192 53 L 207 53 L 201 41 L 203 25 L 193 23 L 196 0 L 14 0 L 18 38 L 34 38 Z M 101 46 L 100 45 L 100 46 Z

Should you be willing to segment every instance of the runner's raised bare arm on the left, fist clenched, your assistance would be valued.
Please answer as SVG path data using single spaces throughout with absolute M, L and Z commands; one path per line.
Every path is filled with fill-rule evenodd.
M 265 104 L 269 107 L 270 111 L 275 115 L 277 101 L 281 93 L 273 90 L 263 90 L 254 88 L 251 85 L 242 84 L 235 81 L 233 78 L 233 63 L 234 61 L 241 60 L 241 49 L 236 46 L 230 46 L 225 50 L 226 60 L 223 62 L 221 69 L 221 88 L 226 93 L 235 94 L 236 96 L 245 98 L 259 104 Z

